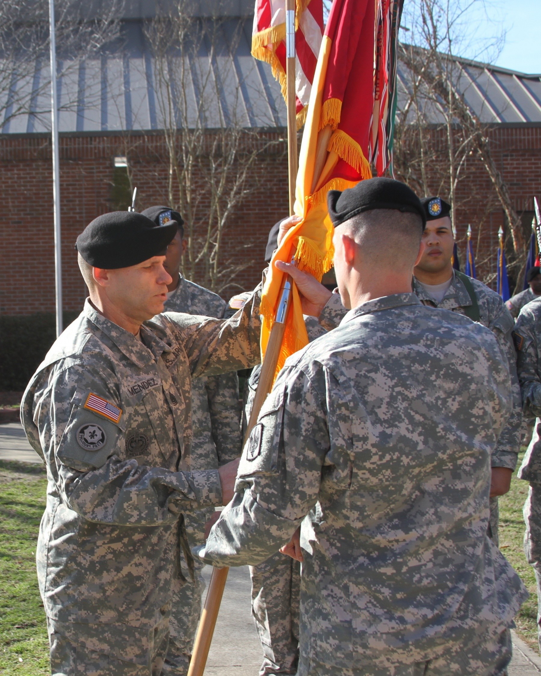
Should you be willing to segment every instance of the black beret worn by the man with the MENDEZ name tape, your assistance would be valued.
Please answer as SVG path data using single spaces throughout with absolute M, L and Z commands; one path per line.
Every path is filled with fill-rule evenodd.
M 98 216 L 77 237 L 75 248 L 95 268 L 114 270 L 165 256 L 177 233 L 177 223 L 158 226 L 137 212 L 111 212 Z

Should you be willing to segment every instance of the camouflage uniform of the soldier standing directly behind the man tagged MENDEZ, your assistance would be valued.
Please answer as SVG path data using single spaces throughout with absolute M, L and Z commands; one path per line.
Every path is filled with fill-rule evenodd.
M 164 311 L 222 318 L 226 308 L 225 300 L 218 294 L 181 275 L 177 289 L 166 300 Z M 218 465 L 238 458 L 241 454 L 241 427 L 236 371 L 191 381 L 191 427 L 191 450 L 183 458 L 181 469 L 216 469 Z M 209 508 L 186 516 L 186 531 L 192 546 L 204 542 L 204 525 L 213 511 Z M 194 564 L 191 577 L 183 562 L 186 584 L 177 590 L 172 600 L 164 676 L 184 676 L 188 673 L 205 588 L 201 574 L 204 564 L 200 561 Z

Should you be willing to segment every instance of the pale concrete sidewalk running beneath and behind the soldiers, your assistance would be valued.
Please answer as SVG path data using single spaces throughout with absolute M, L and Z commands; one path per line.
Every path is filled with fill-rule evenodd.
M 0 460 L 41 462 L 19 423 L 0 425 Z M 204 569 L 206 582 L 212 569 Z M 509 676 L 538 676 L 541 658 L 513 634 Z M 250 612 L 250 573 L 247 566 L 229 570 L 220 614 L 210 648 L 206 676 L 258 676 L 262 650 Z

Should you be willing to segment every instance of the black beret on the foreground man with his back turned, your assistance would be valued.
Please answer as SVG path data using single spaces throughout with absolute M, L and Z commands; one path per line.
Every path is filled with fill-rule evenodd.
M 419 197 L 405 183 L 393 178 L 367 178 L 343 192 L 329 190 L 327 205 L 335 228 L 357 214 L 374 209 L 396 209 L 419 214 L 423 228 L 426 224 L 425 210 Z

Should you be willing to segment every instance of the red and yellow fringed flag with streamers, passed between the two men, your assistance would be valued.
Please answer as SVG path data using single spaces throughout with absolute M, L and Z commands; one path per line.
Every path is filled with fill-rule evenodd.
M 300 149 L 295 212 L 302 221 L 291 228 L 275 251 L 266 278 L 261 301 L 262 354 L 283 277 L 274 261 L 289 262 L 294 257 L 298 268 L 321 279 L 333 264 L 327 192 L 371 178 L 371 165 L 379 175 L 390 165 L 402 1 L 333 1 Z M 293 287 L 293 308 L 287 317 L 278 368 L 307 343 L 300 297 Z

